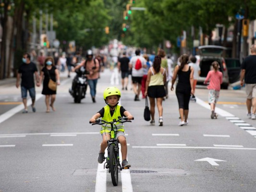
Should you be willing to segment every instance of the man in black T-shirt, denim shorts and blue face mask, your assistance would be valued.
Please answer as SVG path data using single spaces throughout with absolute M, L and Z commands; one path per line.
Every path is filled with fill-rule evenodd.
M 20 77 L 21 77 L 21 95 L 24 104 L 23 113 L 27 113 L 27 91 L 29 91 L 29 95 L 32 99 L 32 110 L 36 112 L 35 108 L 35 100 L 36 100 L 36 90 L 34 83 L 34 73 L 37 79 L 37 86 L 39 86 L 39 76 L 37 72 L 37 66 L 35 63 L 30 61 L 29 53 L 25 53 L 22 58 L 23 63 L 21 64 L 18 74 L 16 87 L 19 88 L 20 85 Z

